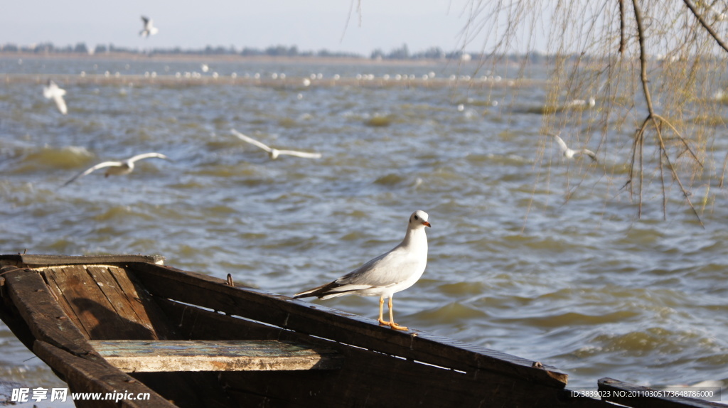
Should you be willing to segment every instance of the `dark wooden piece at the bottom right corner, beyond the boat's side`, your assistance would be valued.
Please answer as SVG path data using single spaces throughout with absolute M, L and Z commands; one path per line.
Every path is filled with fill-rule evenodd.
M 668 396 L 665 391 L 642 385 L 625 383 L 614 378 L 601 378 L 597 382 L 601 399 L 632 408 L 718 408 L 719 402 L 684 396 Z M 686 387 L 687 391 L 687 387 Z

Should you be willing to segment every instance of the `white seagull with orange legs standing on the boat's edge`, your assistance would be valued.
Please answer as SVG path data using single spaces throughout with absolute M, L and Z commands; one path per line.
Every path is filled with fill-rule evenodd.
M 331 283 L 314 287 L 293 295 L 329 299 L 343 295 L 379 296 L 379 324 L 392 329 L 406 330 L 395 323 L 392 311 L 392 296 L 419 280 L 427 266 L 427 234 L 424 227 L 430 227 L 427 212 L 413 212 L 407 225 L 405 239 L 391 251 L 379 255 L 360 268 L 351 271 Z M 384 299 L 389 298 L 389 321 L 382 317 Z

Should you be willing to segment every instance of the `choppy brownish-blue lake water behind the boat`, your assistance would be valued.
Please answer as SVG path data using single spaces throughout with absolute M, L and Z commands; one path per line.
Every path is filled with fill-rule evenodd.
M 563 115 L 538 113 L 542 70 L 202 62 L 0 59 L 1 252 L 164 255 L 292 295 L 391 249 L 423 209 L 427 270 L 396 296 L 398 323 L 559 367 L 570 386 L 728 383 L 726 192 L 690 180 L 702 228 L 675 188 L 663 220 L 655 182 L 638 219 L 620 190 L 636 122 L 602 143 L 587 126 L 598 97 L 562 132 L 592 163 L 544 135 Z M 48 78 L 68 115 L 44 99 Z M 272 161 L 232 128 L 323 157 Z M 706 164 L 720 172 L 727 146 Z M 61 188 L 151 151 L 173 161 Z M 321 303 L 378 311 L 373 297 Z M 62 384 L 1 323 L 0 379 Z

